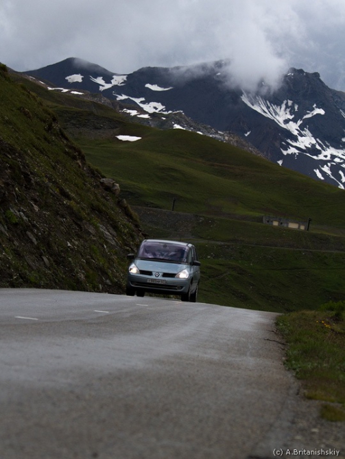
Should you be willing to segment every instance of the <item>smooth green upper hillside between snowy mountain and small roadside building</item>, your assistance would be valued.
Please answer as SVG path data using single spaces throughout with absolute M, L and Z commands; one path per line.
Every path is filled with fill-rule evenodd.
M 86 156 L 109 175 L 121 176 L 136 203 L 181 212 L 288 215 L 316 224 L 344 226 L 344 191 L 313 181 L 211 138 L 178 129 L 157 131 L 124 125 L 139 142 L 78 138 Z

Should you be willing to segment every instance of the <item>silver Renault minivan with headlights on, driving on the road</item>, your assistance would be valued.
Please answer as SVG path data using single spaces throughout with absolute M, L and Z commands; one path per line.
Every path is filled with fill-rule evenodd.
M 145 239 L 128 268 L 126 295 L 145 293 L 179 295 L 182 301 L 196 301 L 200 262 L 191 244 L 175 240 Z

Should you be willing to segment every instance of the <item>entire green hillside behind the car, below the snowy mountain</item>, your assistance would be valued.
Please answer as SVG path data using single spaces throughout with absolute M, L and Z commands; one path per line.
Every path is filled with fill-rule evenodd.
M 36 90 L 137 212 L 168 212 L 175 202 L 169 225 L 145 211 L 141 224 L 149 236 L 194 241 L 200 301 L 283 312 L 344 298 L 344 190 L 200 134 L 147 127 L 97 101 Z M 176 223 L 179 213 L 185 221 Z M 189 214 L 198 216 L 192 225 Z M 311 219 L 310 231 L 264 225 L 265 214 Z

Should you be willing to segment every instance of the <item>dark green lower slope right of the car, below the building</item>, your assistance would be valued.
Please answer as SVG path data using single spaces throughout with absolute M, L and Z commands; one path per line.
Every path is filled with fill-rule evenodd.
M 344 254 L 252 245 L 198 245 L 206 302 L 288 312 L 345 291 Z

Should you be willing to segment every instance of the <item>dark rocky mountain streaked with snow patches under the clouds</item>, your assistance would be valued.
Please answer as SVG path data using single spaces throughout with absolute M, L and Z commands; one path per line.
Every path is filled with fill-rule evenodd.
M 281 166 L 345 187 L 345 94 L 328 88 L 318 73 L 291 69 L 273 92 L 264 84 L 257 92 L 231 86 L 226 61 L 121 75 L 69 58 L 26 73 L 54 90 L 131 103 L 133 116 L 182 111 L 241 136 Z

